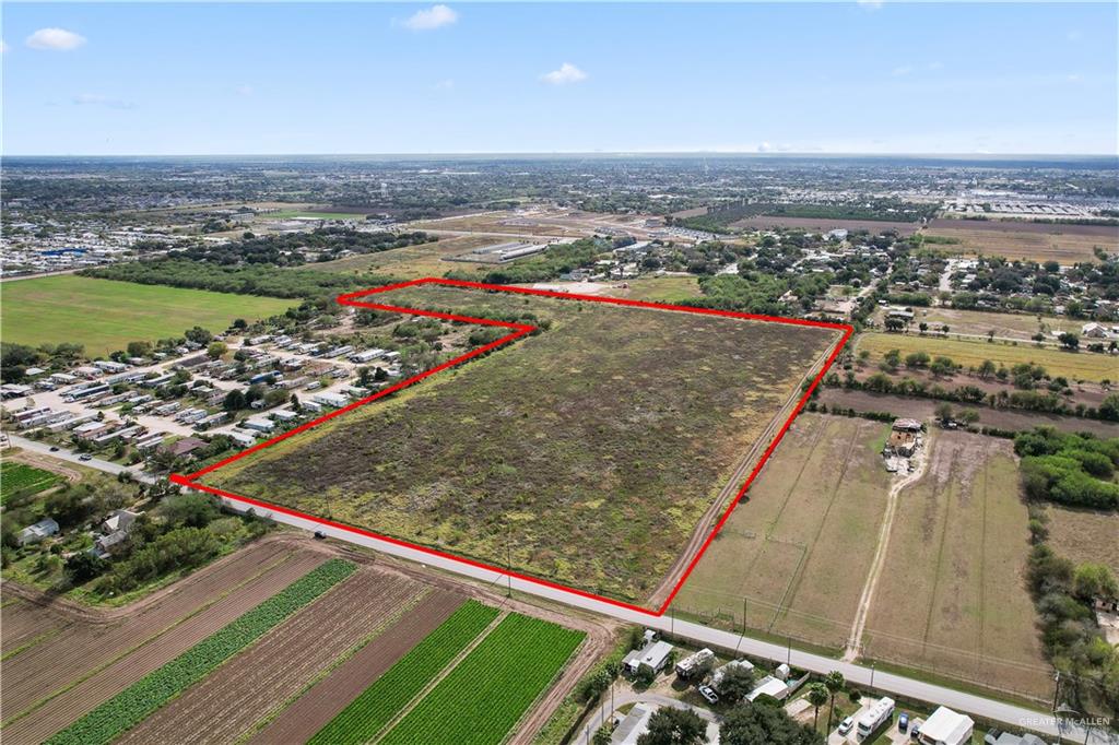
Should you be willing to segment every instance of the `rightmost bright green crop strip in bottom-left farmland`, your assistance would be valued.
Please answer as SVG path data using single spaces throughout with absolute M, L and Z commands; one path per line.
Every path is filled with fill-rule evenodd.
M 499 745 L 584 636 L 547 621 L 509 615 L 380 745 Z

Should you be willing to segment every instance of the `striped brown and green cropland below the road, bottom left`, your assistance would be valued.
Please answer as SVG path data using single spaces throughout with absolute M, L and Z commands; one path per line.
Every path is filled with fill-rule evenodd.
M 460 724 L 476 733 L 470 742 L 496 745 L 610 639 L 599 625 L 561 625 L 521 603 L 291 536 L 134 609 L 91 615 L 20 595 L 2 614 L 12 743 L 337 743 L 378 732 L 422 742 L 444 726 L 430 709 L 453 699 L 477 713 Z M 44 664 L 58 656 L 73 662 Z M 493 690 L 462 685 L 482 676 L 504 688 L 514 675 L 519 697 L 500 710 L 478 704 Z

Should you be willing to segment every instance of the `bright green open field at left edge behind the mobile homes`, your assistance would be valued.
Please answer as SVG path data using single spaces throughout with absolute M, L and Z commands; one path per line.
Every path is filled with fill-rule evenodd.
M 76 342 L 90 357 L 124 349 L 130 341 L 181 337 L 195 326 L 224 331 L 282 313 L 292 300 L 95 280 L 73 274 L 6 282 L 4 341 L 38 347 Z

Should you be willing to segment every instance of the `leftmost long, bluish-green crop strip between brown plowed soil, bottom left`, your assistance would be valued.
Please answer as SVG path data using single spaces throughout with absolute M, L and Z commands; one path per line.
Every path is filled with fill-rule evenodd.
M 348 577 L 356 568 L 341 559 L 331 559 L 316 567 L 220 631 L 132 683 L 47 743 L 92 745 L 111 742 Z

